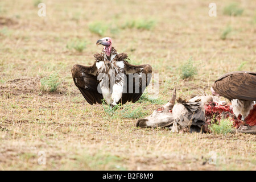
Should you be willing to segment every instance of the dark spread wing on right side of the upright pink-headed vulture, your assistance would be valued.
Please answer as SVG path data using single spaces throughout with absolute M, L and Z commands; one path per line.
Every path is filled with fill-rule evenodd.
M 152 67 L 149 64 L 132 65 L 128 63 L 126 53 L 120 53 L 117 56 L 117 60 L 123 61 L 125 64 L 123 70 L 126 75 L 121 103 L 136 102 L 150 84 Z

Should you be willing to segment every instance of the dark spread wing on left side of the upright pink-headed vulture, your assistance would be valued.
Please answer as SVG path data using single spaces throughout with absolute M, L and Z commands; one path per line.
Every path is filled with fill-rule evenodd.
M 79 88 L 82 96 L 90 104 L 102 104 L 103 96 L 97 90 L 97 61 L 102 61 L 104 59 L 100 54 L 96 53 L 94 55 L 96 58 L 95 63 L 90 67 L 85 67 L 83 65 L 76 64 L 73 66 L 71 72 L 75 85 Z

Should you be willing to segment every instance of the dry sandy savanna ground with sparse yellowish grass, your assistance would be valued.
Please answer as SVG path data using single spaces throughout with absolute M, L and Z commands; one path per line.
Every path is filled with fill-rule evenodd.
M 0 1 L 0 170 L 256 169 L 255 135 L 135 127 L 173 88 L 189 98 L 223 73 L 256 71 L 255 1 L 236 1 L 231 16 L 234 1 L 213 1 L 216 17 L 212 1 L 42 2 L 46 17 L 40 1 Z M 105 36 L 131 63 L 152 65 L 158 98 L 116 111 L 84 100 L 71 68 L 93 64 Z M 182 79 L 189 58 L 197 75 Z

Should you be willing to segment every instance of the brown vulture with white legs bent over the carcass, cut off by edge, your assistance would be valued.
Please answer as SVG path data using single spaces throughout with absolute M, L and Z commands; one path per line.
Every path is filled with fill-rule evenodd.
M 213 95 L 228 98 L 232 102 L 233 112 L 242 115 L 245 121 L 256 101 L 256 72 L 230 72 L 222 75 L 212 85 Z

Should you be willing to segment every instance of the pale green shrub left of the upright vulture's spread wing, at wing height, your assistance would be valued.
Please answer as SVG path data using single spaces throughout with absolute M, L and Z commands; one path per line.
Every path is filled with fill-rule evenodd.
M 46 92 L 55 92 L 57 90 L 57 86 L 60 85 L 59 73 L 53 72 L 51 75 L 41 78 L 40 82 L 41 90 Z

